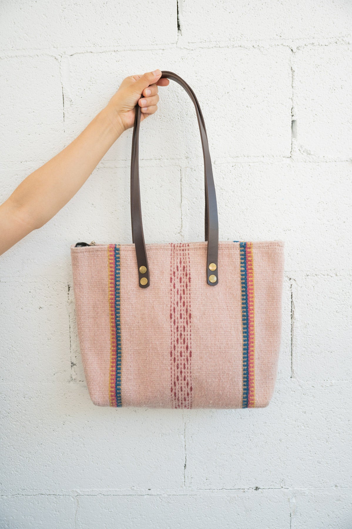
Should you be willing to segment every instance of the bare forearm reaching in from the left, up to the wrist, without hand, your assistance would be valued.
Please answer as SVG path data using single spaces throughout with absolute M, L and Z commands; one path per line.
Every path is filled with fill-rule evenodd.
M 118 116 L 106 107 L 78 138 L 27 176 L 0 206 L 0 254 L 67 204 L 122 132 Z

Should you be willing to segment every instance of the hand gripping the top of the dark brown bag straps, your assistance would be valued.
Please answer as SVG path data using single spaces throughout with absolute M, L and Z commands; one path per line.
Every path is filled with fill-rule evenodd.
M 159 101 L 158 86 L 168 86 L 170 82 L 169 79 L 160 79 L 160 76 L 161 71 L 154 70 L 143 75 L 131 75 L 122 81 L 107 105 L 112 112 L 113 123 L 116 123 L 122 132 L 133 126 L 137 102 L 142 111 L 141 121 L 156 112 L 156 103 Z

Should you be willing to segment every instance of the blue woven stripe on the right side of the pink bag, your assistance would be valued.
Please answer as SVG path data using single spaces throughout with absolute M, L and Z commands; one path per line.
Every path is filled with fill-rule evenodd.
M 235 242 L 235 241 L 234 241 Z M 239 243 L 239 260 L 240 260 L 240 282 L 241 282 L 241 304 L 242 304 L 242 336 L 243 336 L 243 397 L 242 407 L 248 407 L 248 392 L 249 392 L 249 373 L 248 373 L 248 292 L 247 292 L 247 259 L 246 259 L 246 243 Z

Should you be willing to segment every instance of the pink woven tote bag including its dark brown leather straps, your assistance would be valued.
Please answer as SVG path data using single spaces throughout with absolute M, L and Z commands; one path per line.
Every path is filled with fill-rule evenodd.
M 98 406 L 264 407 L 281 336 L 283 243 L 218 241 L 206 127 L 193 90 L 205 167 L 205 242 L 145 244 L 131 162 L 132 244 L 71 247 L 82 361 Z

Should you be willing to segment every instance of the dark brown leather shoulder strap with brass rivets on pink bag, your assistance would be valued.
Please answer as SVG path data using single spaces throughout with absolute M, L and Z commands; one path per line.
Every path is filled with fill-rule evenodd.
M 182 86 L 192 99 L 198 119 L 200 137 L 203 149 L 204 159 L 204 180 L 205 180 L 205 240 L 208 241 L 207 250 L 207 268 L 206 278 L 210 286 L 218 284 L 218 244 L 219 244 L 219 229 L 218 229 L 218 210 L 216 202 L 216 193 L 214 186 L 214 178 L 212 176 L 211 159 L 209 153 L 209 145 L 204 118 L 200 110 L 197 97 L 192 88 L 177 74 L 171 71 L 163 71 L 161 77 L 172 79 Z M 135 245 L 138 279 L 141 288 L 147 288 L 150 285 L 149 266 L 145 250 L 143 224 L 142 224 L 142 210 L 141 210 L 141 194 L 140 194 L 140 177 L 138 167 L 138 138 L 141 124 L 141 107 L 136 105 L 135 120 L 132 136 L 132 157 L 131 157 L 131 223 L 132 223 L 132 242 Z M 210 269 L 209 269 L 210 265 Z M 146 271 L 144 272 L 144 268 Z M 142 270 L 142 271 L 141 271 Z M 214 280 L 215 276 L 215 280 Z M 211 277 L 212 280 L 209 280 Z M 141 284 L 145 282 L 145 285 Z

